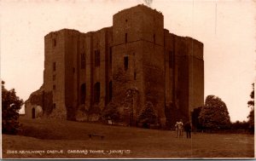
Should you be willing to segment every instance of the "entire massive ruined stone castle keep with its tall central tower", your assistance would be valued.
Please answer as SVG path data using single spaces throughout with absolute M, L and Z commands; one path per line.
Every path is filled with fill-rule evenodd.
M 26 115 L 138 125 L 149 108 L 164 127 L 203 103 L 203 43 L 170 33 L 163 14 L 137 5 L 97 32 L 47 34 L 44 84 L 26 101 Z

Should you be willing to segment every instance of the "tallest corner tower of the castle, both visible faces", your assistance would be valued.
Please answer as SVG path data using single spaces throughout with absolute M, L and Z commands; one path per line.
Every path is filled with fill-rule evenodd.
M 113 15 L 114 97 L 135 87 L 140 99 L 132 107 L 135 108 L 133 118 L 137 120 L 149 101 L 153 103 L 159 124 L 162 125 L 166 122 L 162 107 L 165 105 L 163 45 L 163 15 L 159 12 L 138 5 Z M 125 59 L 128 60 L 127 69 Z M 125 80 L 122 83 L 114 78 L 118 73 L 124 74 Z

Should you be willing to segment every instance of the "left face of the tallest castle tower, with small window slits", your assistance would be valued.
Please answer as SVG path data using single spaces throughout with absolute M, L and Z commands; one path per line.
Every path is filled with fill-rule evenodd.
M 127 115 L 126 122 L 137 124 L 137 118 L 144 104 L 143 87 L 143 18 L 141 9 L 125 9 L 113 15 L 113 101 L 117 101 L 120 112 Z M 128 61 L 125 68 L 125 59 Z M 137 89 L 137 97 L 125 102 L 126 91 Z M 128 99 L 129 101 L 129 99 Z M 129 117 L 131 116 L 131 120 Z M 127 119 L 128 118 L 128 119 Z

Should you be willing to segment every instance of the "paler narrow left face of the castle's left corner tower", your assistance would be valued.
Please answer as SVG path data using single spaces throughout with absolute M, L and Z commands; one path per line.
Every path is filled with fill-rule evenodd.
M 44 37 L 44 92 L 52 93 L 52 105 L 44 105 L 53 118 L 67 118 L 65 106 L 65 32 L 50 32 Z

